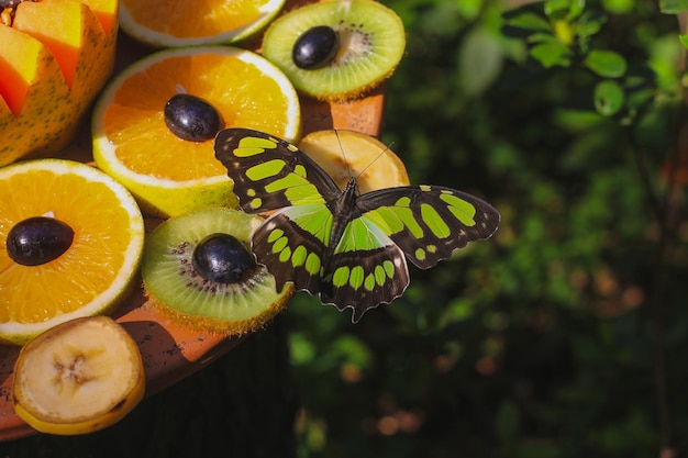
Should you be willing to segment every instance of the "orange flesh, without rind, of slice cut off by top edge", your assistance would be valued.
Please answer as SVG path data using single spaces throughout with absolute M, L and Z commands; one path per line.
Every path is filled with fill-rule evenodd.
M 212 36 L 255 21 L 266 0 L 124 0 L 135 22 L 177 37 Z M 211 11 L 202 15 L 199 12 Z

